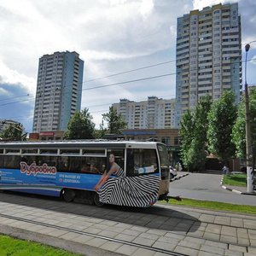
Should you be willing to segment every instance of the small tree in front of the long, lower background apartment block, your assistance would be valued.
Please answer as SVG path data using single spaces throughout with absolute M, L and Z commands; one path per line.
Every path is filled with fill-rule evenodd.
M 102 114 L 102 119 L 108 122 L 108 132 L 111 134 L 121 134 L 121 129 L 125 129 L 126 123 L 121 113 L 117 113 L 113 106 L 109 107 L 108 113 Z

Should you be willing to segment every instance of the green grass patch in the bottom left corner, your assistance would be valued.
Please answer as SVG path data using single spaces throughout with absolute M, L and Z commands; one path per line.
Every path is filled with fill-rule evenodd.
M 45 246 L 34 241 L 24 241 L 0 235 L 1 256 L 79 256 L 62 249 Z

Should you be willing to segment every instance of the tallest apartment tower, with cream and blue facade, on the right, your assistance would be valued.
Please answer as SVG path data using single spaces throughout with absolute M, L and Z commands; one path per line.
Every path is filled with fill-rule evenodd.
M 241 90 L 241 17 L 238 4 L 218 4 L 177 18 L 176 126 L 201 96 L 218 99 Z

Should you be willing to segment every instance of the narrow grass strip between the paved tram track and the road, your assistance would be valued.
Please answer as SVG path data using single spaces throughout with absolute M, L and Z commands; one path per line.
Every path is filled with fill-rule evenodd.
M 160 201 L 160 202 L 164 203 L 166 201 Z M 168 202 L 168 204 L 185 206 L 185 207 L 204 208 L 204 209 L 207 208 L 207 209 L 212 209 L 216 211 L 256 214 L 256 207 L 245 206 L 245 205 L 235 205 L 235 204 L 218 202 L 218 201 L 201 201 L 201 200 L 183 198 L 182 201 L 171 200 Z

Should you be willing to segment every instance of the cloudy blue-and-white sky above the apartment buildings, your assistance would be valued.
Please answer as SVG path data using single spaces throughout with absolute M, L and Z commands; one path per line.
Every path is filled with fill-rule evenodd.
M 235 2 L 242 60 L 252 42 L 247 84 L 256 84 L 254 0 L 0 0 L 0 119 L 32 132 L 38 61 L 55 51 L 76 51 L 84 61 L 81 109 L 89 108 L 96 127 L 119 99 L 175 98 L 177 18 Z

